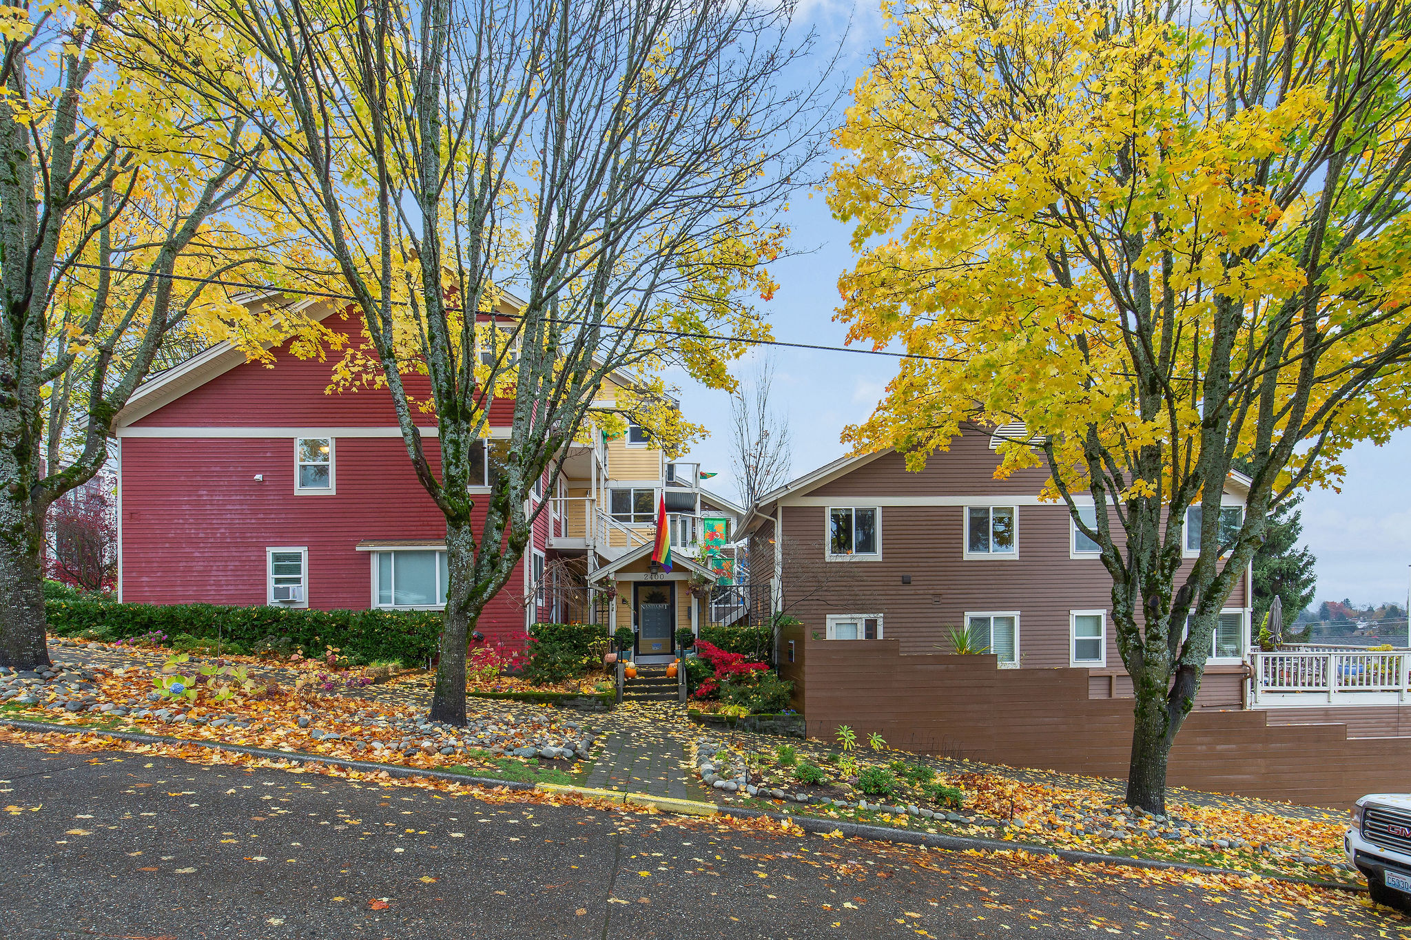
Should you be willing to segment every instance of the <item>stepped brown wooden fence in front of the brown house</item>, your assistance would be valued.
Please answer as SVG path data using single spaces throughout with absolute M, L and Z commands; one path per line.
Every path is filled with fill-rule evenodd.
M 789 643 L 793 641 L 793 661 Z M 1132 699 L 1089 698 L 1085 669 L 999 669 L 992 655 L 900 655 L 895 640 L 780 636 L 809 736 L 840 724 L 924 754 L 1125 778 Z M 1268 724 L 1267 712 L 1195 712 L 1170 782 L 1194 789 L 1348 806 L 1411 788 L 1411 737 L 1349 738 L 1342 723 Z

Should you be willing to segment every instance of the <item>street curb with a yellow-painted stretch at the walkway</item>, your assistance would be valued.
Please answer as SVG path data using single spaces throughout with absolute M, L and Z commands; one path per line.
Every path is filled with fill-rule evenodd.
M 868 839 L 871 841 L 899 843 L 906 846 L 926 846 L 927 848 L 944 848 L 947 851 L 1024 851 L 1030 855 L 1053 855 L 1064 861 L 1077 861 L 1102 865 L 1125 865 L 1127 868 L 1149 868 L 1157 871 L 1195 871 L 1205 875 L 1235 875 L 1239 878 L 1263 878 L 1264 881 L 1281 881 L 1294 885 L 1308 885 L 1326 891 L 1342 891 L 1348 893 L 1367 893 L 1364 886 L 1348 885 L 1340 881 L 1314 881 L 1311 878 L 1294 878 L 1290 875 L 1260 875 L 1252 871 L 1235 868 L 1215 868 L 1211 865 L 1197 865 L 1180 861 L 1163 861 L 1157 858 L 1129 858 L 1127 855 L 1105 855 L 1102 853 L 1078 851 L 1074 848 L 1053 848 L 1019 841 L 1003 841 L 999 839 L 981 839 L 978 836 L 945 836 L 941 833 L 917 833 L 890 826 L 872 826 L 868 823 L 849 823 L 841 819 L 818 819 L 814 816 L 794 816 L 766 809 L 751 809 L 746 806 L 720 806 L 689 799 L 674 799 L 670 796 L 652 796 L 649 793 L 628 793 L 624 791 L 593 789 L 588 786 L 573 786 L 566 784 L 525 784 L 521 781 L 504 781 L 494 777 L 470 777 L 468 774 L 452 774 L 450 771 L 416 769 L 398 764 L 378 764 L 375 761 L 356 761 L 343 757 L 326 757 L 323 754 L 309 754 L 308 751 L 275 751 L 265 747 L 250 747 L 246 744 L 224 744 L 222 741 L 200 741 L 188 737 L 166 737 L 161 734 L 141 734 L 135 731 L 107 731 L 103 729 L 89 729 L 76 724 L 49 724 L 47 722 L 27 722 L 23 719 L 0 719 L 0 727 L 13 727 L 21 731 L 61 734 L 99 734 L 123 741 L 137 741 L 141 744 L 190 744 L 213 751 L 233 751 L 236 754 L 251 754 L 282 761 L 302 764 L 325 764 L 329 767 L 346 767 L 357 771 L 387 771 L 388 777 L 430 777 L 454 784 L 473 784 L 477 786 L 505 788 L 514 791 L 538 791 L 542 793 L 567 793 L 574 796 L 590 796 L 626 806 L 655 806 L 663 812 L 683 816 L 735 816 L 739 819 L 773 819 L 787 822 L 807 833 L 841 831 L 844 836 Z

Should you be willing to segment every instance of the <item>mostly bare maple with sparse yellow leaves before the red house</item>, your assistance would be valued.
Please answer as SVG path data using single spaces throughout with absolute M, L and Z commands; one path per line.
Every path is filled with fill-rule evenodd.
M 154 72 L 260 128 L 271 190 L 365 324 L 332 388 L 384 388 L 446 517 L 432 716 L 466 717 L 466 647 L 566 445 L 624 412 L 698 433 L 662 372 L 731 388 L 773 292 L 770 214 L 811 154 L 811 42 L 787 4 L 303 0 L 148 4 Z M 175 42 L 169 34 L 202 37 Z M 797 130 L 803 127 L 803 130 Z M 422 373 L 430 400 L 404 376 Z M 612 403 L 605 404 L 608 393 Z M 481 492 L 490 413 L 508 417 Z M 416 427 L 433 413 L 439 459 Z M 591 430 L 595 427 L 597 430 Z M 435 464 L 435 465 L 433 465 Z

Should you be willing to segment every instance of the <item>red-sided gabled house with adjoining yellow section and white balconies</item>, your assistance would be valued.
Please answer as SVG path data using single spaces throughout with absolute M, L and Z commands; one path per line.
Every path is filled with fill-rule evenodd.
M 325 304 L 308 311 L 361 341 L 361 320 Z M 440 609 L 446 523 L 412 471 L 388 393 L 330 395 L 330 361 L 299 359 L 288 345 L 271 352 L 272 365 L 248 362 L 217 344 L 152 376 L 119 413 L 119 599 Z M 408 393 L 429 397 L 425 378 L 406 376 L 406 383 Z M 611 396 L 602 389 L 602 399 Z M 487 457 L 497 438 L 508 438 L 508 409 L 492 409 Z M 420 431 L 437 471 L 430 416 Z M 669 582 L 676 612 L 669 624 L 660 589 L 639 610 L 632 585 L 619 592 L 617 583 L 638 578 L 638 567 L 645 572 L 645 562 L 632 565 L 626 555 L 652 540 L 649 510 L 663 492 L 673 538 L 677 530 L 700 531 L 701 512 L 711 512 L 700 502 L 698 468 L 674 472 L 635 426 L 619 440 L 595 437 L 593 445 L 570 448 L 556 492 L 540 486 L 533 496 L 549 506 L 532 547 L 481 617 L 490 641 L 519 647 L 536 620 L 635 626 L 646 613 L 655 633 L 667 633 L 704 616 L 670 583 L 710 575 L 690 559 L 674 575 L 650 574 Z M 492 459 L 481 466 L 488 495 Z M 658 645 L 660 637 L 643 651 Z

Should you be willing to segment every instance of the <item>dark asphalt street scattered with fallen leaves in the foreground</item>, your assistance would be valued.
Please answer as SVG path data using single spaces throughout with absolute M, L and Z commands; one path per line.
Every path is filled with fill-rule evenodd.
M 1411 937 L 1051 861 L 0 744 L 0 936 Z

